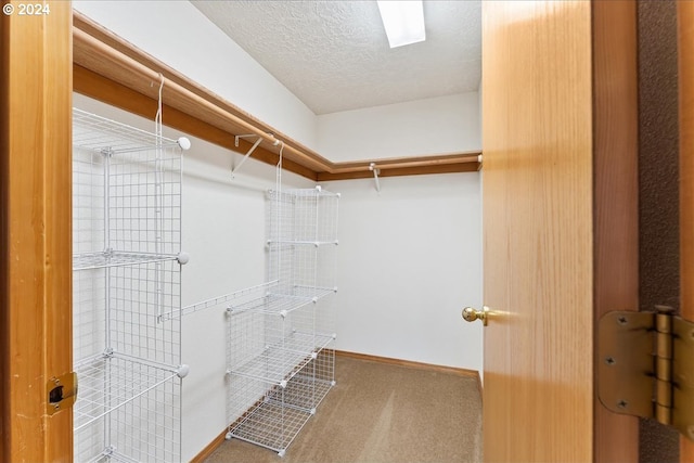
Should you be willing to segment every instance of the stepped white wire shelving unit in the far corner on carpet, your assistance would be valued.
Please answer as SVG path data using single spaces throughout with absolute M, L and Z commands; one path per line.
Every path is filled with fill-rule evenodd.
M 267 283 L 228 306 L 228 439 L 281 456 L 335 385 L 339 194 L 268 194 Z

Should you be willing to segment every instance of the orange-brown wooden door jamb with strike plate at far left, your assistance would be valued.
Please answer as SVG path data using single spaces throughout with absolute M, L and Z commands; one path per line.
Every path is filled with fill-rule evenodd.
M 73 460 L 72 2 L 0 15 L 0 460 Z M 8 8 L 5 4 L 5 8 Z M 26 3 L 24 3 L 26 4 Z

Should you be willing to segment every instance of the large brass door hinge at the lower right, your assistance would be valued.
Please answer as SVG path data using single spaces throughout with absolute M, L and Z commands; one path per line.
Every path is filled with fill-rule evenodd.
M 694 440 L 694 323 L 656 309 L 600 319 L 597 396 L 613 412 L 657 420 Z

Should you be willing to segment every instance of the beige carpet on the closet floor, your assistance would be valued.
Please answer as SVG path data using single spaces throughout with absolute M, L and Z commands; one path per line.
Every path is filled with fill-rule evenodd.
M 337 385 L 284 458 L 232 439 L 206 462 L 481 461 L 477 378 L 344 356 L 335 361 Z

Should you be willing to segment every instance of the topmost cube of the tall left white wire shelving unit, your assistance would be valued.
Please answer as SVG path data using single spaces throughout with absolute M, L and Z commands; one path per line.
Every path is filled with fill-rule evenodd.
M 74 116 L 74 254 L 177 255 L 178 143 L 79 110 Z

